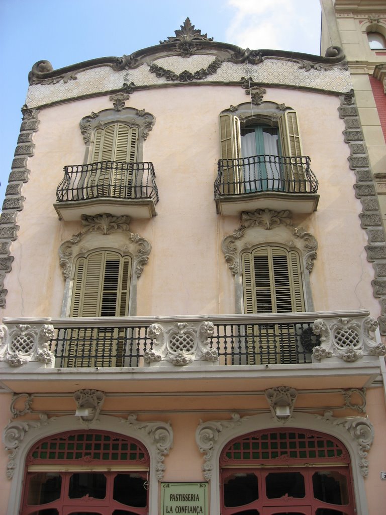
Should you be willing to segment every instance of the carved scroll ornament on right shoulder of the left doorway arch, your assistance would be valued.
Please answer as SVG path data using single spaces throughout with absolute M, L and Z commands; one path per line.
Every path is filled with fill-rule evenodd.
M 173 447 L 173 430 L 170 422 L 139 422 L 137 416 L 133 413 L 128 416 L 127 420 L 120 418 L 119 421 L 127 424 L 132 430 L 145 434 L 152 440 L 156 449 L 155 473 L 157 479 L 161 481 L 166 468 L 164 465 L 165 456 L 169 454 Z

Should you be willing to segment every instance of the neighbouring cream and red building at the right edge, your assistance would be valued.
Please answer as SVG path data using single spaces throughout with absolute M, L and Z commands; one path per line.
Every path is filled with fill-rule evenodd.
M 369 173 L 374 178 L 381 218 L 377 213 L 369 213 L 369 220 L 364 224 L 373 226 L 369 243 L 383 248 L 381 227 L 386 227 L 386 3 L 384 0 L 321 0 L 321 5 L 321 54 L 331 45 L 342 47 L 352 76 L 358 107 L 358 118 L 350 125 L 356 129 L 352 141 L 364 140 L 363 152 L 359 148 L 356 158 L 352 158 L 352 167 L 357 168 L 362 177 Z M 371 187 L 364 186 L 367 192 Z M 361 195 L 359 190 L 358 194 Z M 371 207 L 368 210 L 372 211 Z M 370 261 L 374 256 L 383 260 L 375 267 L 374 291 L 381 299 L 381 333 L 384 334 L 386 270 L 383 263 L 386 255 L 380 249 L 370 250 Z

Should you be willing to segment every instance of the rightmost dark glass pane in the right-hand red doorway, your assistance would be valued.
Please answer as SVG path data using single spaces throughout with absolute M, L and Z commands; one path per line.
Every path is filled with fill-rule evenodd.
M 319 471 L 312 476 L 315 499 L 330 504 L 348 504 L 347 478 L 336 471 Z

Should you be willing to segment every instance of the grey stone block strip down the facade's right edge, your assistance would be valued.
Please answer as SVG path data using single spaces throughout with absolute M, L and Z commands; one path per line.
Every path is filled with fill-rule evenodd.
M 386 242 L 382 215 L 370 167 L 369 155 L 364 141 L 362 126 L 356 105 L 354 90 L 340 97 L 339 117 L 345 123 L 344 141 L 349 145 L 350 169 L 354 170 L 357 182 L 355 196 L 362 203 L 361 227 L 367 233 L 367 260 L 373 263 L 375 279 L 372 281 L 374 297 L 379 299 L 381 315 L 378 318 L 379 330 L 386 334 Z

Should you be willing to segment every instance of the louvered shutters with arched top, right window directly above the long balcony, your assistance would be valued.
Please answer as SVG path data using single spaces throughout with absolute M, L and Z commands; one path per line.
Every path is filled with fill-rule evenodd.
M 242 254 L 245 313 L 304 311 L 300 259 L 296 251 L 260 247 Z

